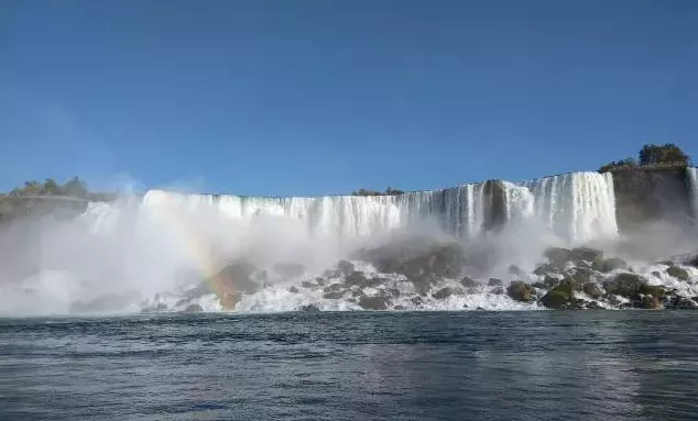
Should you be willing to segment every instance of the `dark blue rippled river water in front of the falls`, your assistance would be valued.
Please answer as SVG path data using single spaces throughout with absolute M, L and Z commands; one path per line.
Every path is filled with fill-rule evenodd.
M 0 320 L 0 419 L 698 419 L 698 312 Z

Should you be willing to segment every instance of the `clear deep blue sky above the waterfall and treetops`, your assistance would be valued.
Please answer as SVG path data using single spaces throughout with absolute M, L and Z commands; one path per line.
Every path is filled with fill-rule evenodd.
M 314 196 L 698 160 L 698 1 L 0 2 L 0 189 Z

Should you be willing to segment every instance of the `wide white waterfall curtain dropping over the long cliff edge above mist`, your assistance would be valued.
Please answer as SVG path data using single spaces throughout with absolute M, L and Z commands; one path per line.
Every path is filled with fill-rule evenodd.
M 695 169 L 690 174 L 695 177 Z M 536 220 L 569 243 L 582 243 L 618 232 L 613 179 L 609 174 L 574 173 L 519 184 L 488 182 L 399 196 L 317 198 L 150 190 L 140 202 L 131 199 L 119 203 L 92 203 L 86 213 L 94 223 L 92 230 L 105 233 L 128 225 L 119 221 L 124 217 L 132 225 L 144 218 L 151 223 L 163 224 L 173 218 L 178 220 L 176 223 L 184 223 L 186 215 L 189 215 L 189 224 L 215 225 L 215 221 L 219 221 L 221 224 L 236 223 L 243 230 L 261 219 L 283 220 L 307 237 L 334 236 L 338 240 L 366 239 L 382 230 L 425 220 L 466 240 L 477 239 L 483 230 L 491 228 L 492 221 L 509 224 Z M 222 225 L 209 229 L 225 230 Z

